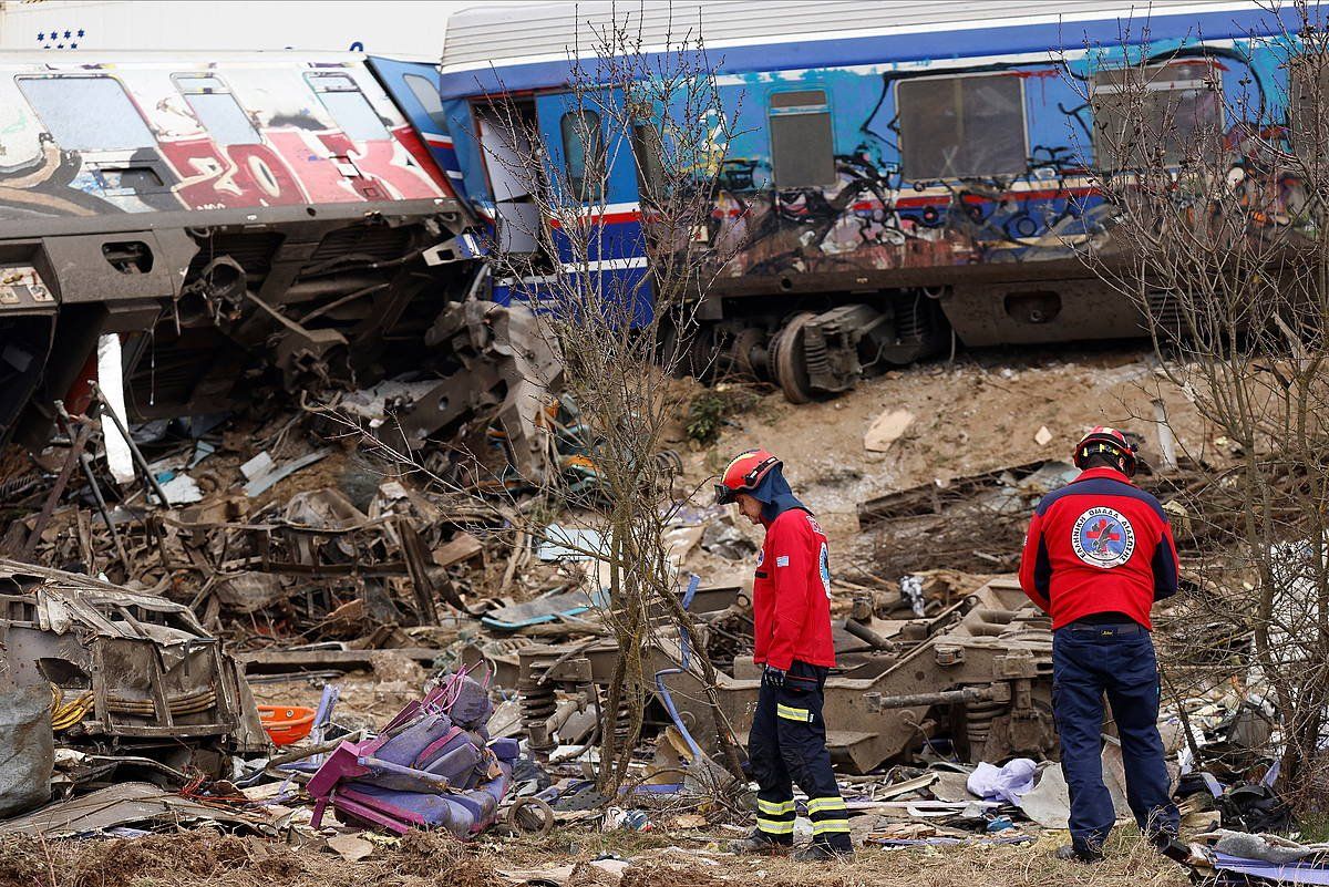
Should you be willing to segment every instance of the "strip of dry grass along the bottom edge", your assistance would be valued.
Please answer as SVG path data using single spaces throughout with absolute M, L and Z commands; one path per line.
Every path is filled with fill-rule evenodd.
M 787 858 L 736 858 L 678 847 L 663 834 L 614 842 L 594 831 L 561 830 L 529 838 L 464 845 L 448 835 L 412 833 L 347 863 L 316 846 L 194 830 L 133 841 L 45 845 L 32 838 L 0 843 L 0 887 L 493 887 L 496 868 L 577 864 L 567 887 L 1063 887 L 1148 884 L 1181 887 L 1184 872 L 1138 837 L 1114 838 L 1108 860 L 1092 867 L 1051 858 L 1057 841 L 1033 847 L 942 847 L 859 851 L 851 863 L 800 864 Z M 585 863 L 617 852 L 634 864 L 621 884 Z

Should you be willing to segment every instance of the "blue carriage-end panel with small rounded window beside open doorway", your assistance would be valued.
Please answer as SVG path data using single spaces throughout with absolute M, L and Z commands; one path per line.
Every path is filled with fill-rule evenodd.
M 571 191 L 562 198 L 579 204 L 583 218 L 598 226 L 587 272 L 602 275 L 606 292 L 630 301 L 633 324 L 641 325 L 650 320 L 654 300 L 646 271 L 637 163 L 627 134 L 594 110 L 595 105 L 571 93 L 537 96 L 540 134 L 553 178 Z M 597 163 L 587 163 L 594 153 L 606 159 L 603 175 L 594 174 Z M 567 263 L 573 256 L 558 259 Z

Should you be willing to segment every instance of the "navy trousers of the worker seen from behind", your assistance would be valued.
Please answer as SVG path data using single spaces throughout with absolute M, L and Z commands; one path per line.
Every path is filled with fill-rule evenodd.
M 1159 675 L 1154 641 L 1139 625 L 1067 625 L 1053 635 L 1053 709 L 1070 786 L 1071 842 L 1102 851 L 1116 815 L 1103 785 L 1103 694 L 1122 740 L 1126 798 L 1154 841 L 1176 837 L 1159 738 Z

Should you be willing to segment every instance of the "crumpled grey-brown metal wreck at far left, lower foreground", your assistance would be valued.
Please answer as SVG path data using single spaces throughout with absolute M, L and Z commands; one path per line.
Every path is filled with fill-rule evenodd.
M 66 738 L 266 749 L 241 668 L 187 607 L 8 560 L 0 587 L 0 685 L 49 686 L 57 710 L 81 710 Z

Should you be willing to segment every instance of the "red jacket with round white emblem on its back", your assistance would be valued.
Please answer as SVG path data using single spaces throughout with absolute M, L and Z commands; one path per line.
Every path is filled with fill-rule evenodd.
M 1053 628 L 1120 612 L 1152 629 L 1154 602 L 1176 594 L 1172 526 L 1159 501 L 1120 471 L 1082 471 L 1034 510 L 1019 584 Z

